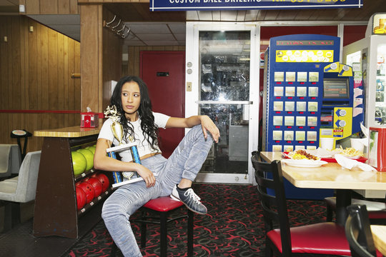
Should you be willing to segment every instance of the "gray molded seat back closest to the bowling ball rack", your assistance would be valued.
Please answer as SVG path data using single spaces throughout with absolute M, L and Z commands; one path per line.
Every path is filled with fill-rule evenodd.
M 29 152 L 24 157 L 19 170 L 14 201 L 26 203 L 35 200 L 41 151 Z M 52 172 L 55 172 L 53 169 Z

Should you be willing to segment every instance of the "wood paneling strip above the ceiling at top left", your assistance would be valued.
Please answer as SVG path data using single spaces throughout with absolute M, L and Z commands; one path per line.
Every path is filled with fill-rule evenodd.
M 26 14 L 79 14 L 78 0 L 19 0 Z

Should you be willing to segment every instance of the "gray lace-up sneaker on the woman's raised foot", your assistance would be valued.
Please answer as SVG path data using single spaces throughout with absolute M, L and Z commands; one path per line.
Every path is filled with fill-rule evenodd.
M 194 213 L 207 214 L 207 207 L 205 207 L 204 204 L 199 201 L 201 200 L 201 198 L 199 198 L 197 194 L 194 193 L 192 188 L 189 188 L 186 191 L 182 191 L 177 188 L 176 185 L 174 186 L 170 197 L 172 197 L 172 199 L 176 201 L 182 201 L 182 203 L 184 203 L 184 205 L 187 206 L 187 208 L 190 211 L 193 211 Z

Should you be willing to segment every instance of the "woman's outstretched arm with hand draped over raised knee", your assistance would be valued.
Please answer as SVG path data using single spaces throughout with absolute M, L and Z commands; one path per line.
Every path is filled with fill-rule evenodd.
M 189 118 L 170 117 L 167 121 L 166 128 L 192 128 L 201 124 L 204 137 L 207 138 L 207 131 L 211 133 L 216 143 L 219 141 L 219 129 L 214 122 L 206 115 L 190 116 Z

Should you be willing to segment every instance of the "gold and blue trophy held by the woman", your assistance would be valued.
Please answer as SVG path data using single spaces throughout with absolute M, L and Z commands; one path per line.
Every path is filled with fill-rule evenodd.
M 115 155 L 116 152 L 130 150 L 132 153 L 133 161 L 141 164 L 141 160 L 138 154 L 137 144 L 133 142 L 134 140 L 132 136 L 129 136 L 130 143 L 123 143 L 124 132 L 123 132 L 122 124 L 119 123 L 119 113 L 117 112 L 117 107 L 107 106 L 106 111 L 104 111 L 104 116 L 112 119 L 113 121 L 112 133 L 114 134 L 114 137 L 119 142 L 118 146 L 114 146 L 106 149 L 109 157 L 116 159 L 117 158 L 117 156 Z M 137 176 L 137 178 L 132 178 L 134 175 Z M 122 181 L 121 171 L 113 171 L 113 178 L 114 178 L 114 184 L 112 185 L 113 188 L 122 186 L 123 184 L 126 184 L 126 183 L 133 183 L 133 182 L 142 180 L 142 178 L 139 177 L 137 172 L 135 171 L 123 172 L 123 176 L 128 180 Z

